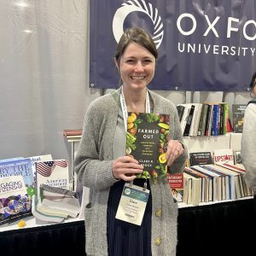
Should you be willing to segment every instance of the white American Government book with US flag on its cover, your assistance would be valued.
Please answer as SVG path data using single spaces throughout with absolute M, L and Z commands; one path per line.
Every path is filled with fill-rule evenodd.
M 69 189 L 69 172 L 67 160 L 48 160 L 36 162 L 36 189 L 38 203 L 41 203 L 40 187 L 46 184 L 51 187 Z

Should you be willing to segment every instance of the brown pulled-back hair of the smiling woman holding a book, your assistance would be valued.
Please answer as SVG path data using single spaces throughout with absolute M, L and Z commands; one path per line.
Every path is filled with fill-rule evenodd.
M 155 59 L 157 59 L 158 52 L 150 34 L 140 27 L 131 27 L 125 30 L 116 47 L 114 57 L 118 63 L 126 47 L 131 43 L 142 45 L 144 48 L 148 49 L 152 55 L 154 55 Z

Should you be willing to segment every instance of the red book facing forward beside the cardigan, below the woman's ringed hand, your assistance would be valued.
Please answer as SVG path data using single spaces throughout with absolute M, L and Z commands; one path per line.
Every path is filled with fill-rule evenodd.
M 183 173 L 167 173 L 167 181 L 175 201 L 183 201 Z

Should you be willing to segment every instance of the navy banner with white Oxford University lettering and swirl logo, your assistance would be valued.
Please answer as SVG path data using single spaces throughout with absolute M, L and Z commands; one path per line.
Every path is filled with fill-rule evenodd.
M 152 90 L 246 91 L 256 70 L 254 0 L 90 1 L 90 87 L 117 88 L 113 56 L 139 26 L 159 51 Z

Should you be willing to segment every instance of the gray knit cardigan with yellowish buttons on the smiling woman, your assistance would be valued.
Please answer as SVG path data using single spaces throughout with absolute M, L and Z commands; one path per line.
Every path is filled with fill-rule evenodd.
M 120 91 L 117 90 L 117 93 Z M 153 91 L 149 91 L 149 95 L 154 102 L 154 113 L 171 114 L 172 139 L 183 142 L 175 105 Z M 111 94 L 107 94 L 91 102 L 84 116 L 83 135 L 75 158 L 75 172 L 83 185 L 90 188 L 90 203 L 84 209 L 87 255 L 108 255 L 108 193 L 113 183 L 117 182 L 112 174 L 112 148 L 118 111 L 119 104 Z M 186 158 L 187 150 L 171 166 L 172 172 L 183 172 Z M 176 255 L 177 203 L 173 202 L 166 178 L 159 178 L 158 183 L 151 183 L 150 180 L 150 187 L 152 255 Z

